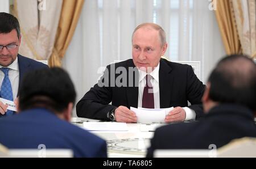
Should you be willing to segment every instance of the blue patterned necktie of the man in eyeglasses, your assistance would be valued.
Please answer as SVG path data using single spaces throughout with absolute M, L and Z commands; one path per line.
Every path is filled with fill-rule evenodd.
M 5 74 L 1 86 L 1 98 L 13 101 L 13 90 L 11 89 L 11 82 L 9 79 L 9 68 L 1 68 Z M 13 111 L 7 110 L 6 116 L 13 115 Z

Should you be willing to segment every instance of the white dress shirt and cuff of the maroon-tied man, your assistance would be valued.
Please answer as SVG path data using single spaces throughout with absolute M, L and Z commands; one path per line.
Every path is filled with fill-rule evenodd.
M 155 67 L 155 69 L 149 73 L 151 75 L 151 84 L 153 87 L 154 91 L 154 105 L 155 108 L 160 108 L 160 92 L 159 92 L 159 68 L 160 64 Z M 147 73 L 145 71 L 139 70 L 139 96 L 138 96 L 138 107 L 142 107 L 142 96 L 143 96 L 143 91 L 144 87 L 146 86 L 146 75 Z M 185 121 L 187 120 L 195 120 L 196 119 L 196 113 L 193 111 L 193 109 L 188 108 L 188 107 L 183 107 L 183 109 L 186 112 L 186 118 Z

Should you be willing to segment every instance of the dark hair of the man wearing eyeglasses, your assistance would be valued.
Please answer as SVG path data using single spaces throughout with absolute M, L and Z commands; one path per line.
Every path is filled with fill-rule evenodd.
M 19 21 L 11 14 L 0 12 L 0 33 L 10 33 L 16 30 L 18 39 L 20 37 Z

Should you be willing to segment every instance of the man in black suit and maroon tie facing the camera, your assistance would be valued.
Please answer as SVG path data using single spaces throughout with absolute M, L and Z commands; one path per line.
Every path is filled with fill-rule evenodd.
M 141 24 L 132 43 L 133 60 L 107 66 L 101 80 L 77 103 L 77 116 L 137 122 L 130 107 L 175 107 L 166 122 L 199 118 L 205 86 L 191 66 L 161 59 L 167 49 L 164 30 L 154 23 Z

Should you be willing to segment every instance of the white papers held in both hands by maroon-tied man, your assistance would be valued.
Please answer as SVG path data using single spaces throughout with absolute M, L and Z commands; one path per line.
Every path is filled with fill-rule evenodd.
M 130 108 L 137 116 L 138 123 L 152 123 L 152 122 L 164 122 L 166 115 L 174 107 L 171 108 L 159 108 L 159 109 L 148 109 L 148 108 Z

